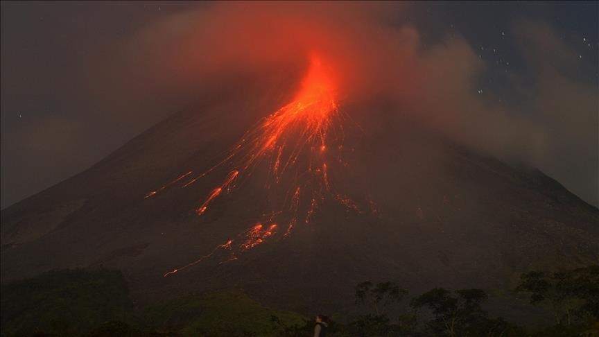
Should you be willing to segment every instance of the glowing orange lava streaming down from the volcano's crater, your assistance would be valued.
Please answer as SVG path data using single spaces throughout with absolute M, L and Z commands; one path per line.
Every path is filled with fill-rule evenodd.
M 290 103 L 266 116 L 256 128 L 246 132 L 225 159 L 183 184 L 182 187 L 189 187 L 225 164 L 234 167 L 223 183 L 214 187 L 204 202 L 199 205 L 196 209 L 198 215 L 205 214 L 211 202 L 221 196 L 223 191 L 228 192 L 234 188 L 236 180 L 244 176 L 247 178 L 261 162 L 268 165 L 268 176 L 271 182 L 267 187 L 278 184 L 276 190 L 280 191 L 280 186 L 284 185 L 282 187 L 284 195 L 273 198 L 284 200 L 283 205 L 277 205 L 284 210 L 277 214 L 280 214 L 287 224 L 282 237 L 289 236 L 294 225 L 299 221 L 309 223 L 326 196 L 330 196 L 331 200 L 339 202 L 347 209 L 359 211 L 353 200 L 333 191 L 331 187 L 333 172 L 331 172 L 332 166 L 327 165 L 327 158 L 330 158 L 333 155 L 331 152 L 334 151 L 329 149 L 342 149 L 341 144 L 336 144 L 342 140 L 338 93 L 331 76 L 331 69 L 324 66 L 318 56 L 313 55 L 310 60 L 310 67 Z M 331 143 L 337 146 L 329 146 Z M 340 159 L 337 161 L 341 162 Z M 159 191 L 163 191 L 189 174 L 191 171 L 164 187 L 148 193 L 146 198 L 155 196 Z M 270 225 L 266 227 L 263 225 L 265 222 L 270 222 Z M 236 259 L 235 252 L 244 252 L 267 239 L 272 239 L 276 230 L 275 219 L 271 217 L 268 221 L 259 222 L 249 230 L 241 232 L 226 244 L 218 245 L 207 256 L 183 268 L 211 257 L 219 248 L 231 250 L 232 258 L 227 261 L 233 261 Z M 233 245 L 234 241 L 241 241 L 241 243 Z M 177 268 L 164 276 L 177 273 L 183 268 Z

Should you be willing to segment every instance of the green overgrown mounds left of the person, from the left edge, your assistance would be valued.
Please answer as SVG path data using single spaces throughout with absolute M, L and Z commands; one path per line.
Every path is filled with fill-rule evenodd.
M 281 336 L 307 318 L 228 289 L 136 308 L 120 270 L 53 270 L 1 287 L 1 336 Z

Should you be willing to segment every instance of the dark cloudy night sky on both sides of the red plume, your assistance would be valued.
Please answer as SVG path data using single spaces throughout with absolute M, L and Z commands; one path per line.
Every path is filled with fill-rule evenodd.
M 193 78 L 202 74 L 193 71 L 176 76 L 184 67 L 177 73 L 165 64 L 187 50 L 177 49 L 180 35 L 218 35 L 229 24 L 221 12 L 254 5 L 214 14 L 222 6 L 3 1 L 1 208 L 85 170 L 196 100 L 201 89 L 189 84 L 209 86 L 211 79 Z M 343 22 L 342 13 L 330 15 Z M 537 166 L 599 205 L 597 1 L 397 3 L 380 21 L 386 31 L 410 28 L 423 64 L 440 60 L 425 94 L 447 98 L 444 88 L 463 87 L 455 107 L 469 100 L 480 107 L 480 115 L 455 112 L 471 123 L 439 126 L 443 132 Z M 355 27 L 362 26 L 347 24 L 350 40 Z M 210 45 L 201 37 L 198 44 Z M 469 76 L 441 75 L 455 67 Z M 414 111 L 429 108 L 408 103 Z

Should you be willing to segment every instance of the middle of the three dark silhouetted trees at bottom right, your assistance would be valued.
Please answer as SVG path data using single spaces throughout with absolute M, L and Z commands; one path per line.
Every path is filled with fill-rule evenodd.
M 428 322 L 428 327 L 436 334 L 449 334 L 458 336 L 465 332 L 476 322 L 487 317 L 487 313 L 480 308 L 480 303 L 487 300 L 487 294 L 480 289 L 462 289 L 451 291 L 444 288 L 435 288 L 412 300 L 410 304 L 414 309 L 428 309 L 433 320 Z

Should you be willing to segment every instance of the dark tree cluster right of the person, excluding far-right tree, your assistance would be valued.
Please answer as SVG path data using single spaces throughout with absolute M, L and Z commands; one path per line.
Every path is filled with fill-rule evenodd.
M 408 310 L 394 320 L 389 309 L 407 301 L 408 291 L 392 282 L 356 286 L 356 303 L 368 311 L 349 324 L 354 336 L 524 336 L 521 327 L 503 318 L 489 318 L 480 289 L 435 288 L 408 301 Z M 397 310 L 396 310 L 397 311 Z

